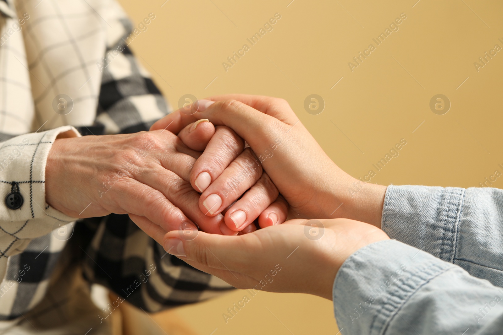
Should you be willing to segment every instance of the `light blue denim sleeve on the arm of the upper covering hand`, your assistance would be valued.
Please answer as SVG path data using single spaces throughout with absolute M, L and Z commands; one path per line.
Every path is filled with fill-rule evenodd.
M 503 287 L 503 190 L 388 186 L 381 226 L 390 238 Z

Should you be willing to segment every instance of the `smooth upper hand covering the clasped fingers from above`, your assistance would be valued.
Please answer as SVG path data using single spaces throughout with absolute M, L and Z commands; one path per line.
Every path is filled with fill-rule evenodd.
M 360 182 L 334 164 L 285 100 L 240 94 L 214 96 L 194 103 L 189 113 L 177 111 L 166 116 L 155 127 L 169 124 L 183 129 L 200 119 L 226 126 L 246 141 L 291 206 L 294 217 L 347 217 L 380 227 L 386 187 Z M 191 182 L 204 170 L 205 166 L 196 162 Z M 218 178 L 211 182 L 211 191 L 203 192 L 200 206 L 210 193 L 221 194 L 225 190 Z M 353 194 L 356 182 L 362 187 Z M 232 230 L 235 228 L 227 215 L 238 210 L 248 209 L 236 203 L 225 217 Z

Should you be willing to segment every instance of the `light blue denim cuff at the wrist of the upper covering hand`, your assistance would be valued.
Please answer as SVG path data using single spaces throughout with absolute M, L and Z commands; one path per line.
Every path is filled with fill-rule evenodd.
M 464 188 L 388 186 L 381 229 L 391 238 L 454 261 Z

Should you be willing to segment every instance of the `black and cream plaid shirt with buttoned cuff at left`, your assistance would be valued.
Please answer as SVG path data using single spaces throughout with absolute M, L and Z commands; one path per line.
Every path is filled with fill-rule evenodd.
M 11 209 L 19 198 L 0 201 L 0 331 L 47 303 L 51 283 L 75 266 L 88 283 L 152 312 L 228 290 L 166 255 L 127 215 L 72 222 L 45 202 L 45 162 L 58 134 L 148 130 L 171 111 L 127 47 L 132 26 L 119 5 L 0 0 L 0 29 L 0 195 L 24 200 L 19 209 Z

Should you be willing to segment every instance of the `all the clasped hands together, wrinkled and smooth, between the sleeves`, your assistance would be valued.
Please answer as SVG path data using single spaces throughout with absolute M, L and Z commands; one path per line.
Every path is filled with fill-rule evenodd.
M 91 202 L 80 217 L 128 213 L 166 252 L 237 288 L 255 287 L 279 265 L 264 290 L 331 300 L 344 261 L 388 239 L 379 229 L 386 187 L 352 194 L 357 180 L 279 98 L 213 96 L 149 132 L 56 140 L 47 164 L 56 209 L 77 217 Z M 61 180 L 82 192 L 64 193 Z M 310 219 L 319 238 L 306 233 Z

